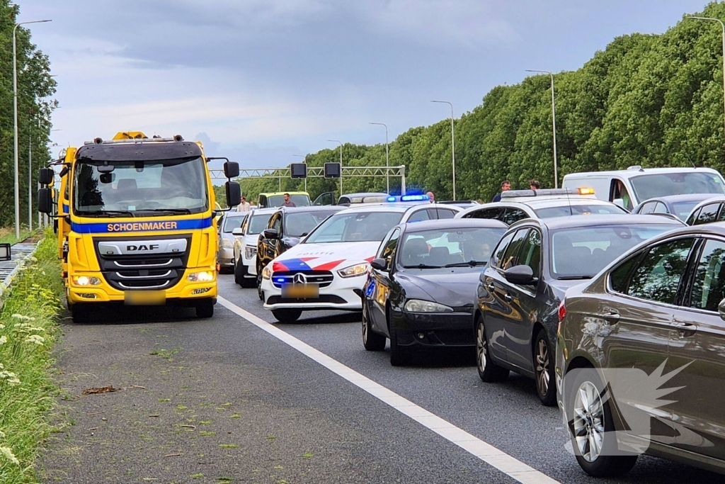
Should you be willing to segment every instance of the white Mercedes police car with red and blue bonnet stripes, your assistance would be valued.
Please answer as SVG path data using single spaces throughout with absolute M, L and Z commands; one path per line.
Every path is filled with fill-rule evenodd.
M 389 203 L 340 210 L 262 269 L 265 309 L 281 322 L 302 311 L 360 311 L 365 274 L 380 242 L 398 223 L 453 218 L 451 205 Z

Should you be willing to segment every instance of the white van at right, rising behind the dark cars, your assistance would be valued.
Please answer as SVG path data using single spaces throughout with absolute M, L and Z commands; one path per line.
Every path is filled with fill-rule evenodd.
M 563 188 L 589 187 L 601 200 L 627 210 L 654 197 L 686 193 L 725 194 L 723 176 L 712 168 L 642 168 L 588 171 L 564 176 Z

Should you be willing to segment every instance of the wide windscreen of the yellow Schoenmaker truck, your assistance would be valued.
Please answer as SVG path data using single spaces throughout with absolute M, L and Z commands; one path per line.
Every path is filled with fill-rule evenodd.
M 132 216 L 169 216 L 209 210 L 204 162 L 200 157 L 177 160 L 79 160 L 73 168 L 73 207 L 80 216 L 103 217 L 129 212 Z

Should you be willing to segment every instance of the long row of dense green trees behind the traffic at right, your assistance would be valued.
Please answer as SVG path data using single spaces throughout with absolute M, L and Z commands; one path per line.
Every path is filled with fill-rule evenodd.
M 725 20 L 725 4 L 697 15 Z M 629 165 L 725 169 L 721 28 L 683 18 L 661 35 L 621 36 L 574 72 L 555 74 L 559 179 L 566 173 Z M 458 199 L 491 200 L 500 181 L 554 186 L 548 75 L 497 86 L 455 120 Z M 307 156 L 310 165 L 339 161 L 339 149 Z M 344 165 L 384 165 L 385 147 L 345 144 Z M 406 165 L 409 189 L 452 197 L 450 119 L 411 128 L 390 144 L 390 165 Z M 391 191 L 399 189 L 391 179 Z M 277 191 L 273 179 L 245 179 L 247 200 Z M 308 179 L 314 198 L 336 182 Z M 283 189 L 302 182 L 283 179 Z M 379 191 L 385 179 L 345 179 L 344 192 Z

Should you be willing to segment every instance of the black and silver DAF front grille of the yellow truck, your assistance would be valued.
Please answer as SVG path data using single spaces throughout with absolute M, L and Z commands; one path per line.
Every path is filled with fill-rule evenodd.
M 152 253 L 142 255 L 140 253 L 123 253 L 120 251 L 103 251 L 101 247 L 113 245 L 123 247 L 144 245 L 144 242 L 164 242 L 186 240 L 186 248 L 174 250 L 170 253 Z M 146 244 L 148 245 L 148 244 Z M 131 237 L 117 239 L 115 237 L 94 238 L 94 247 L 98 256 L 101 274 L 108 284 L 121 291 L 128 290 L 165 290 L 178 284 L 186 271 L 188 253 L 191 248 L 191 236 L 165 236 L 165 237 Z M 115 252 L 115 253 L 111 253 Z M 120 253 L 119 253 L 120 252 Z

